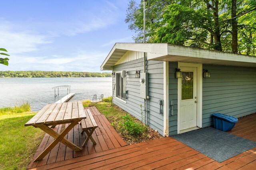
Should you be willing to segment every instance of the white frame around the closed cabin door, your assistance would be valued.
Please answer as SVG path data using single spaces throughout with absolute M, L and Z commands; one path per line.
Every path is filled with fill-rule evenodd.
M 197 68 L 197 118 L 196 126 L 202 128 L 202 64 L 196 63 L 181 63 L 178 62 L 178 68 L 180 67 L 196 67 Z M 180 133 L 180 97 L 181 97 L 181 80 L 178 78 L 178 122 L 177 133 Z

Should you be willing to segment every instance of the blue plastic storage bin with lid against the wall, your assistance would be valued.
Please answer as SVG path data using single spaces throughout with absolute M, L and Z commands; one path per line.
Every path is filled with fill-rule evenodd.
M 221 113 L 213 113 L 212 117 L 214 121 L 214 128 L 225 132 L 230 131 L 238 121 L 236 117 L 224 115 Z

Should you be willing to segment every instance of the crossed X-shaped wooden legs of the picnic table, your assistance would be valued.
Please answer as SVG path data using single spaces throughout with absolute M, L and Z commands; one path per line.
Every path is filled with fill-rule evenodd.
M 72 123 L 70 123 L 70 125 L 68 125 L 68 127 L 60 134 L 56 133 L 54 130 L 52 130 L 51 128 L 49 128 L 46 125 L 37 125 L 37 127 L 39 127 L 40 129 L 42 129 L 43 131 L 45 131 L 46 133 L 48 133 L 49 135 L 51 135 L 52 137 L 55 138 L 55 140 L 34 160 L 34 162 L 38 161 L 38 160 L 42 160 L 44 158 L 44 156 L 46 156 L 46 154 L 48 154 L 48 152 L 50 152 L 50 150 L 52 150 L 59 142 L 62 142 L 64 145 L 68 144 L 69 146 L 71 145 L 74 151 L 80 151 L 82 150 L 82 148 L 76 146 L 74 143 L 71 143 L 70 141 L 68 141 L 67 139 L 64 139 L 65 135 L 68 134 L 68 132 L 79 122 L 79 120 L 77 121 L 73 121 Z M 54 132 L 52 132 L 54 131 Z M 66 145 L 66 146 L 68 146 Z M 69 147 L 68 146 L 68 147 Z

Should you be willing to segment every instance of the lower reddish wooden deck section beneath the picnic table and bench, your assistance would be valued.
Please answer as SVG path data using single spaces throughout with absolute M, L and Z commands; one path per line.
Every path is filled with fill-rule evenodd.
M 90 155 L 97 152 L 102 152 L 104 150 L 115 149 L 127 145 L 118 135 L 118 133 L 116 133 L 115 129 L 110 125 L 106 117 L 99 113 L 96 107 L 89 107 L 89 109 L 94 116 L 96 123 L 98 124 L 98 128 L 96 128 L 92 134 L 94 140 L 97 143 L 96 145 L 93 145 L 92 141 L 89 140 L 87 145 L 82 147 L 82 144 L 85 141 L 85 133 L 81 134 L 82 126 L 77 124 L 73 130 L 68 133 L 66 139 L 82 147 L 82 151 L 74 152 L 72 149 L 66 147 L 62 143 L 59 143 L 44 157 L 43 160 L 39 162 L 33 162 L 34 159 L 54 140 L 53 137 L 50 137 L 50 135 L 46 134 L 27 168 L 44 166 L 63 160 L 69 160 L 78 156 Z M 54 131 L 61 133 L 67 126 L 68 124 L 57 125 L 53 129 Z

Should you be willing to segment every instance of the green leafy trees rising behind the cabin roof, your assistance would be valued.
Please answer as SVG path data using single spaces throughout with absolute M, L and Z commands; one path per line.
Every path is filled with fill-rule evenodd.
M 255 55 L 256 1 L 146 0 L 146 41 Z M 131 0 L 128 28 L 143 40 L 143 0 Z

